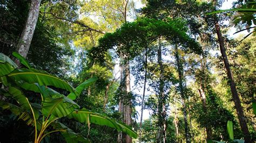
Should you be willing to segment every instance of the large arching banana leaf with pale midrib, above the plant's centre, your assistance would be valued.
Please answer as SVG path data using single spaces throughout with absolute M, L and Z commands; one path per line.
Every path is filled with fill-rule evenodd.
M 44 71 L 39 71 L 36 69 L 20 69 L 15 70 L 8 75 L 11 78 L 14 78 L 15 81 L 25 81 L 28 83 L 38 83 L 39 85 L 52 85 L 57 88 L 65 89 L 73 94 L 78 95 L 75 88 L 73 88 L 69 83 L 63 81 L 62 79 L 50 75 Z

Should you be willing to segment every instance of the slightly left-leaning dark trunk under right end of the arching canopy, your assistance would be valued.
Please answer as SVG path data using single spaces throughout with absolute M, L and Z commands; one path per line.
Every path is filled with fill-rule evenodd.
M 180 90 L 180 96 L 181 96 L 181 104 L 183 107 L 182 111 L 183 111 L 184 124 L 185 124 L 185 137 L 186 137 L 186 142 L 190 142 L 190 133 L 188 131 L 187 111 L 186 111 L 185 94 L 184 94 L 184 87 L 183 87 L 183 69 L 181 69 L 181 62 L 179 59 L 179 51 L 178 51 L 177 44 L 175 45 L 175 57 L 176 57 L 178 75 L 179 75 L 179 90 Z

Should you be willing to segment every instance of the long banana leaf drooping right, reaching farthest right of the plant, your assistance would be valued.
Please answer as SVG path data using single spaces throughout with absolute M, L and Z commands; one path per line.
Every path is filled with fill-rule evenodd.
M 118 131 L 125 132 L 126 134 L 130 135 L 130 137 L 132 137 L 132 138 L 137 138 L 137 136 L 138 136 L 137 133 L 132 131 L 131 127 L 129 127 L 123 123 L 120 123 L 118 121 L 112 120 L 110 118 L 104 117 L 104 116 L 100 115 L 99 113 L 89 111 L 87 109 L 73 111 L 67 117 L 69 119 L 71 119 L 71 118 L 76 119 L 77 121 L 82 122 L 82 123 L 87 123 L 88 119 L 89 119 L 90 123 L 116 128 Z

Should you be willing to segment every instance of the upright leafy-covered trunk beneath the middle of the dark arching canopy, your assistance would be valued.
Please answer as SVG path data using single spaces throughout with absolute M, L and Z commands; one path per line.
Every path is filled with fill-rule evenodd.
M 161 142 L 162 140 L 165 142 L 165 132 L 164 132 L 164 124 L 165 124 L 165 101 L 164 101 L 164 67 L 161 58 L 161 44 L 159 39 L 159 47 L 157 51 L 157 61 L 160 69 L 160 78 L 159 78 L 159 95 L 158 95 L 158 133 L 157 133 L 157 142 Z

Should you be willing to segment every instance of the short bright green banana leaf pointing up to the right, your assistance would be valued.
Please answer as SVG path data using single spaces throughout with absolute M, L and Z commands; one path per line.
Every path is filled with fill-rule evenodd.
M 78 95 L 80 95 L 83 90 L 85 90 L 91 84 L 95 83 L 97 80 L 98 80 L 97 77 L 91 77 L 88 80 L 86 80 L 85 82 L 83 82 L 82 84 L 78 85 L 78 87 L 76 88 Z M 72 100 L 75 100 L 77 96 L 74 93 L 70 93 L 68 95 L 68 97 Z

